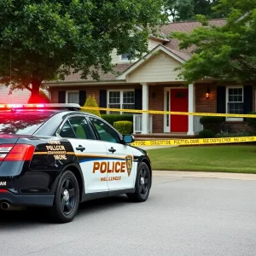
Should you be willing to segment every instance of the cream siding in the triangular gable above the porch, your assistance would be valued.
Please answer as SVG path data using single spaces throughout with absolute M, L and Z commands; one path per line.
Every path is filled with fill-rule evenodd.
M 173 70 L 175 67 L 180 67 L 180 63 L 160 51 L 131 72 L 126 77 L 126 81 L 128 83 L 174 82 L 177 81 L 177 74 L 180 73 L 180 70 Z

